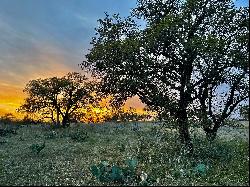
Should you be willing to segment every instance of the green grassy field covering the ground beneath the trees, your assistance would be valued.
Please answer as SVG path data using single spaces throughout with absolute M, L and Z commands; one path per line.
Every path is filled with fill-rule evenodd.
M 21 126 L 0 136 L 0 185 L 247 186 L 249 129 L 227 130 L 211 143 L 202 131 L 192 129 L 195 151 L 190 156 L 175 129 L 153 123 Z M 45 147 L 37 150 L 43 143 Z M 126 168 L 128 160 L 136 164 L 124 180 L 101 180 L 91 170 L 100 163 Z

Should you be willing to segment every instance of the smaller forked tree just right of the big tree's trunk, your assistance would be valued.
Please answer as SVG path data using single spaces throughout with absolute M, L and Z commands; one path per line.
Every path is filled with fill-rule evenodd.
M 207 138 L 214 140 L 218 129 L 225 123 L 226 119 L 235 111 L 245 105 L 249 98 L 249 73 L 238 68 L 233 73 L 232 68 L 224 69 L 221 81 L 207 81 L 199 90 L 201 124 L 206 132 Z M 201 86 L 202 87 L 202 86 Z M 201 88 L 200 87 L 200 88 Z

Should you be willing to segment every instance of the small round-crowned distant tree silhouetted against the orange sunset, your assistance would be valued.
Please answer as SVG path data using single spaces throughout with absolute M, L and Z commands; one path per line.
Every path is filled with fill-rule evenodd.
M 86 80 L 84 75 L 76 72 L 62 78 L 31 80 L 24 89 L 28 97 L 18 111 L 40 113 L 56 121 L 57 125 L 62 117 L 62 126 L 69 126 L 73 113 L 94 102 L 91 95 L 94 84 Z

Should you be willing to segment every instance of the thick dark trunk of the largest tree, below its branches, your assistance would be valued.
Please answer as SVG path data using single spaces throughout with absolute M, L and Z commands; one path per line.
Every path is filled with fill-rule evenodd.
M 187 111 L 185 109 L 180 109 L 177 116 L 177 123 L 179 125 L 179 135 L 181 143 L 185 145 L 189 153 L 193 153 L 193 143 L 191 141 L 189 129 L 188 129 L 188 118 Z

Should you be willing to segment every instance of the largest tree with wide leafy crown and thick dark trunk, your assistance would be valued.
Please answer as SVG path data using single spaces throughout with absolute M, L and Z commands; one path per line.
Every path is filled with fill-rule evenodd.
M 203 105 L 207 84 L 227 83 L 222 73 L 232 80 L 227 72 L 235 67 L 248 72 L 248 20 L 248 9 L 229 0 L 138 0 L 131 16 L 106 13 L 99 20 L 82 68 L 101 78 L 103 92 L 118 102 L 137 94 L 151 109 L 173 116 L 192 151 L 189 109 Z

